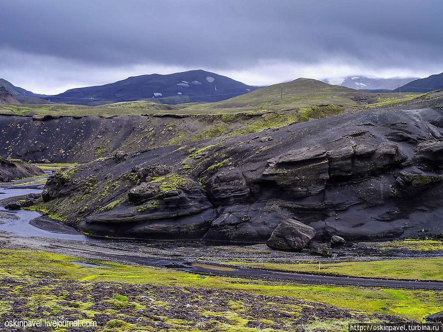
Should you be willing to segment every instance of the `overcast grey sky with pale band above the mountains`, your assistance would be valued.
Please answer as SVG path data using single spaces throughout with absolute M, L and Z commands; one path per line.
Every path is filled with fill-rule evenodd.
M 205 69 L 251 85 L 443 71 L 442 0 L 0 0 L 0 78 L 37 93 Z

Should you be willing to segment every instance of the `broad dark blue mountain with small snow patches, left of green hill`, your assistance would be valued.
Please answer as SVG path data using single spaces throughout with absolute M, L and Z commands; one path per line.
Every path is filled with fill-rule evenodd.
M 101 105 L 119 101 L 155 100 L 164 104 L 215 102 L 258 89 L 204 70 L 169 75 L 141 75 L 102 86 L 71 89 L 49 96 L 66 104 Z

